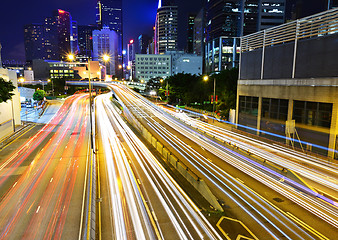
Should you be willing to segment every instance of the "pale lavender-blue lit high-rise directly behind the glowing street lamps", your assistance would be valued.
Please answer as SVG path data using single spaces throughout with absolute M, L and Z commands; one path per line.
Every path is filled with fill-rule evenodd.
M 116 76 L 118 73 L 117 46 L 118 35 L 115 31 L 110 30 L 108 27 L 93 31 L 93 60 L 104 63 L 108 75 Z M 106 63 L 102 59 L 105 54 L 110 56 L 109 61 Z

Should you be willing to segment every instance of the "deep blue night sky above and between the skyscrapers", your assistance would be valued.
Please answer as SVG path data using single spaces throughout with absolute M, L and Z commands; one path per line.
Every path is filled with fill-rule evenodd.
M 188 13 L 197 13 L 202 0 L 177 0 L 179 6 L 179 48 L 186 42 Z M 123 0 L 124 40 L 152 34 L 158 0 Z M 25 60 L 23 26 L 42 23 L 54 9 L 71 13 L 78 25 L 95 23 L 96 0 L 6 0 L 1 3 L 0 42 L 3 60 Z

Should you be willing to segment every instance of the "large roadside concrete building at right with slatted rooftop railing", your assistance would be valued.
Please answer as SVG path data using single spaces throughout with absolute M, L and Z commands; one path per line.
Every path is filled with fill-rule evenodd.
M 337 14 L 338 9 L 332 9 L 241 39 L 238 124 L 284 136 L 296 129 L 308 148 L 334 157 Z

